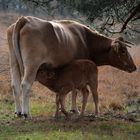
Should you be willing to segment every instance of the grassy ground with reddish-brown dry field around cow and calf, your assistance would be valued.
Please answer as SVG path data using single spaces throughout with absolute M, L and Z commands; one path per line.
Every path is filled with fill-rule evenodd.
M 14 115 L 6 29 L 18 14 L 0 13 L 0 140 L 138 140 L 140 137 L 140 59 L 139 48 L 130 49 L 137 71 L 129 74 L 111 67 L 99 67 L 99 97 L 102 116 L 95 118 L 53 118 L 55 93 L 35 82 L 31 91 L 32 118 Z M 90 95 L 91 97 L 91 95 Z M 80 109 L 81 95 L 78 96 Z M 71 96 L 67 98 L 70 109 Z M 86 114 L 94 110 L 89 98 Z

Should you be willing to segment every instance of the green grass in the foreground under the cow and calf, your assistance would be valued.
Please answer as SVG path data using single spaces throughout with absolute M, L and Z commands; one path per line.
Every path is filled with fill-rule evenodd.
M 0 140 L 138 140 L 140 123 L 122 120 L 55 120 L 55 104 L 31 100 L 31 120 L 14 117 L 14 102 L 0 101 Z

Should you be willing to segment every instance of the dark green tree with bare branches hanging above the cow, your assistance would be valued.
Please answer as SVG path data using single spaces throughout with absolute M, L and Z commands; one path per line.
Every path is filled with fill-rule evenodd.
M 22 1 L 29 2 L 28 0 Z M 51 1 L 53 0 L 30 0 L 37 7 L 49 7 Z M 91 23 L 94 23 L 97 18 L 103 19 L 104 23 L 99 29 L 102 32 L 124 32 L 129 27 L 128 23 L 133 24 L 140 19 L 139 0 L 59 0 L 58 2 L 61 5 L 61 11 L 66 6 L 69 9 L 76 9 L 83 13 Z M 121 23 L 122 27 L 113 28 L 118 23 Z

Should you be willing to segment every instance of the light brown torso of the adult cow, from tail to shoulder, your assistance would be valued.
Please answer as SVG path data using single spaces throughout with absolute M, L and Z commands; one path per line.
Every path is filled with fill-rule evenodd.
M 88 57 L 84 29 L 76 22 L 26 18 L 28 22 L 20 31 L 20 47 L 25 61 L 38 56 L 43 63 L 58 67 L 73 59 Z

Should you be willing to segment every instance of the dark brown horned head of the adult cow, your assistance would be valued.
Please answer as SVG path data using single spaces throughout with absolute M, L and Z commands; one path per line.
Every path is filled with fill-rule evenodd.
M 127 47 L 131 47 L 130 42 L 124 42 L 123 38 L 119 37 L 112 41 L 111 49 L 109 51 L 109 60 L 112 66 L 127 71 L 133 72 L 136 70 L 136 65 L 134 64 Z

